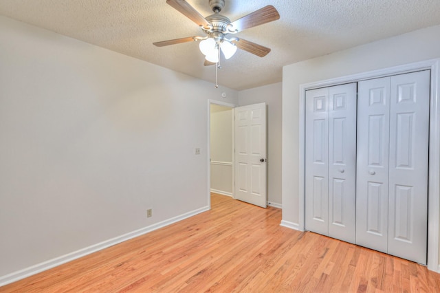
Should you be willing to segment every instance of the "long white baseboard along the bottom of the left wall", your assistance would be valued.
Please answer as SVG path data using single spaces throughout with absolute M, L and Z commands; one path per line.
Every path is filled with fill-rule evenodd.
M 21 279 L 24 279 L 28 276 L 32 276 L 33 274 L 38 274 L 39 272 L 43 272 L 45 270 L 49 270 L 51 268 L 56 267 L 57 265 L 62 265 L 63 263 L 68 263 L 69 261 L 73 261 L 74 259 L 79 259 L 80 257 L 85 257 L 87 254 L 91 254 L 94 252 L 97 252 L 99 250 L 103 250 L 104 248 L 108 248 L 110 246 L 113 246 L 115 244 L 127 241 L 129 239 L 138 237 L 140 235 L 144 235 L 148 232 L 157 230 L 159 228 L 163 228 L 165 226 L 168 226 L 170 224 L 174 224 L 177 221 L 181 221 L 183 219 L 186 219 L 188 217 L 192 217 L 194 215 L 197 215 L 199 213 L 206 212 L 206 210 L 209 210 L 208 206 L 205 206 L 203 208 L 199 208 L 197 210 L 192 210 L 188 213 L 184 213 L 183 215 L 179 215 L 177 217 L 173 217 L 164 221 L 160 221 L 159 223 L 153 224 L 151 226 L 146 226 L 144 228 L 141 228 L 139 230 L 135 230 L 133 232 L 126 233 L 124 235 L 120 235 L 118 237 L 102 241 L 100 243 L 96 243 L 92 246 L 76 250 L 74 252 L 70 252 L 68 254 L 65 254 L 61 257 L 56 257 L 54 259 L 50 259 L 48 261 L 44 261 L 43 263 L 38 263 L 36 265 L 32 265 L 29 268 L 25 268 L 23 270 L 19 270 L 17 272 L 12 272 L 11 274 L 6 274 L 5 276 L 0 276 L 0 287 L 3 285 L 7 285 L 9 283 L 13 283 L 15 281 L 19 281 Z

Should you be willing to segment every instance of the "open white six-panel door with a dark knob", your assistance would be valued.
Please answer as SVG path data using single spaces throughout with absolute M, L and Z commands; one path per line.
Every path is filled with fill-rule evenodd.
M 266 104 L 236 107 L 235 198 L 256 206 L 267 206 Z

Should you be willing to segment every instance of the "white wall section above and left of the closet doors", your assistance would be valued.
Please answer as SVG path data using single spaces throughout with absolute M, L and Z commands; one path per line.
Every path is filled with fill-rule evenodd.
M 298 225 L 299 86 L 440 57 L 440 25 L 283 67 L 283 221 Z

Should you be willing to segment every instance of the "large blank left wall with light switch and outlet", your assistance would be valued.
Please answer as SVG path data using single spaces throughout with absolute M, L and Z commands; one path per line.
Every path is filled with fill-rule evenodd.
M 207 100 L 237 96 L 0 17 L 0 279 L 207 208 Z

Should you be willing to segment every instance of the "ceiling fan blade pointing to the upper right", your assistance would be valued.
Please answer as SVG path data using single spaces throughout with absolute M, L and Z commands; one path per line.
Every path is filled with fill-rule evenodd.
M 247 28 L 253 28 L 257 25 L 276 21 L 277 19 L 280 19 L 280 14 L 278 14 L 278 11 L 274 6 L 268 5 L 246 15 L 245 17 L 241 17 L 241 19 L 237 19 L 230 25 L 232 26 L 232 30 L 240 32 Z

